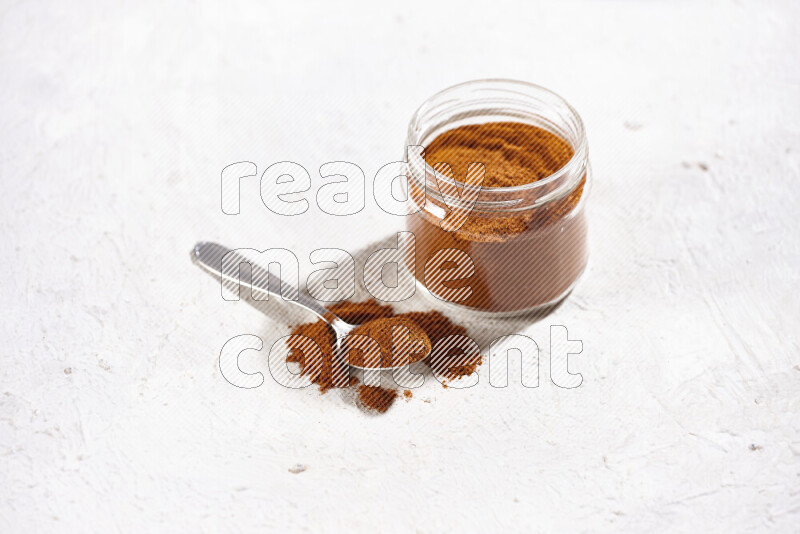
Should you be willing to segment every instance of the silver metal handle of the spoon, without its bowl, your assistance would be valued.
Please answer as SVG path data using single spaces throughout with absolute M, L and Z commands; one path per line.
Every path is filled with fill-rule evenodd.
M 209 241 L 201 241 L 197 243 L 191 252 L 192 262 L 206 271 L 207 273 L 219 278 L 222 284 L 229 290 L 236 293 L 236 288 L 241 284 L 243 286 L 250 286 L 253 288 L 253 296 L 256 294 L 272 297 L 282 297 L 287 302 L 296 304 L 317 315 L 325 322 L 331 323 L 338 319 L 334 314 L 319 301 L 311 298 L 308 295 L 300 293 L 296 287 L 286 283 L 284 280 L 279 280 L 280 293 L 270 289 L 269 284 L 269 270 L 255 261 L 246 258 L 236 250 L 231 250 L 218 243 L 211 243 Z M 249 263 L 251 265 L 250 272 L 244 269 L 239 273 L 239 266 L 242 263 Z M 275 285 L 273 285 L 274 287 Z M 341 319 L 335 322 L 340 322 Z M 340 326 L 340 325 L 336 325 Z

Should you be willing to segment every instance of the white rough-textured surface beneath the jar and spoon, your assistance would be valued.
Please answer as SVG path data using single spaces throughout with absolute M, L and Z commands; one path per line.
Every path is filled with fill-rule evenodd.
M 797 4 L 377 9 L 0 8 L 0 531 L 796 531 Z M 497 76 L 587 124 L 590 269 L 526 329 L 582 339 L 583 385 L 484 373 L 365 418 L 269 375 L 228 384 L 223 343 L 285 327 L 223 302 L 196 240 L 291 248 L 307 272 L 402 221 L 272 216 L 256 181 L 225 216 L 221 169 L 373 176 L 427 96 Z

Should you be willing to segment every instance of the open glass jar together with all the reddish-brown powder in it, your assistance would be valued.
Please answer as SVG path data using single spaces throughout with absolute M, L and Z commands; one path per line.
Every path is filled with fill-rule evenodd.
M 418 211 L 406 218 L 416 240 L 407 265 L 418 283 L 492 315 L 540 311 L 570 293 L 587 263 L 591 175 L 566 101 L 524 82 L 463 83 L 417 110 L 406 145 L 425 147 L 408 151 Z

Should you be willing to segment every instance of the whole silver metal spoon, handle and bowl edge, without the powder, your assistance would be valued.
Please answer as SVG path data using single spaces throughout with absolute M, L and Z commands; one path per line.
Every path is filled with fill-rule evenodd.
M 358 325 L 353 325 L 335 313 L 331 312 L 328 308 L 320 304 L 319 301 L 311 298 L 308 295 L 300 293 L 297 288 L 283 280 L 279 280 L 280 293 L 272 291 L 269 287 L 269 270 L 258 265 L 253 260 L 243 256 L 238 251 L 231 250 L 218 243 L 211 243 L 208 241 L 201 241 L 197 243 L 191 252 L 192 262 L 211 274 L 215 278 L 222 281 L 223 285 L 229 290 L 236 292 L 236 288 L 241 284 L 242 286 L 251 286 L 253 294 L 267 294 L 273 297 L 280 297 L 281 295 L 296 296 L 296 300 L 286 300 L 290 304 L 295 304 L 310 311 L 318 318 L 322 319 L 336 333 L 336 345 L 334 346 L 334 354 L 344 354 L 345 347 L 343 340 L 352 332 Z M 223 261 L 224 260 L 224 261 Z M 242 271 L 241 276 L 239 273 L 239 265 L 242 263 L 249 263 L 252 268 L 251 272 L 247 270 Z M 263 311 L 263 310 L 262 310 Z M 393 367 L 359 367 L 347 362 L 350 367 L 361 371 L 369 372 L 374 376 L 374 373 L 381 371 L 394 371 L 408 366 L 408 364 L 396 365 Z M 414 373 L 416 374 L 416 373 Z M 370 380 L 372 382 L 372 380 Z

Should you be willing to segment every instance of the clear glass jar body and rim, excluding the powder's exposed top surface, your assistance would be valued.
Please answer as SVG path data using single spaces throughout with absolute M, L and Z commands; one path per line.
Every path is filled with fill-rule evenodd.
M 544 129 L 566 141 L 572 157 L 532 183 L 475 187 L 434 170 L 422 153 L 409 149 L 409 196 L 418 211 L 406 218 L 416 245 L 407 266 L 418 284 L 453 306 L 492 315 L 541 311 L 572 291 L 587 263 L 591 173 L 577 112 L 537 85 L 476 80 L 423 103 L 409 124 L 406 146 L 427 147 L 448 130 L 492 122 Z M 452 211 L 465 219 L 455 229 L 442 222 Z

